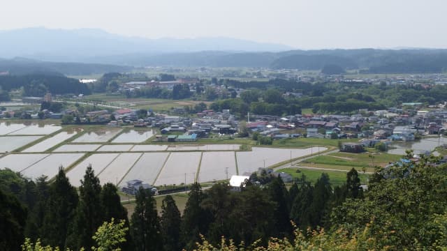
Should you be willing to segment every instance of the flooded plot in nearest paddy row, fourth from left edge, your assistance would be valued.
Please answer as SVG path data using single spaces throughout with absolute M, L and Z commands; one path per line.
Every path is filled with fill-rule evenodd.
M 142 153 L 121 153 L 98 175 L 99 181 L 102 184 L 113 183 L 117 185 L 141 155 Z

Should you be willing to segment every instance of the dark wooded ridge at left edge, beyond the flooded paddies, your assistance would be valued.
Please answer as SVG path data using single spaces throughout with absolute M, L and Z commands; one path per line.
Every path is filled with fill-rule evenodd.
M 24 96 L 43 96 L 47 92 L 53 94 L 91 93 L 87 85 L 80 83 L 78 79 L 57 75 L 5 75 L 0 76 L 0 86 L 4 91 L 23 87 Z

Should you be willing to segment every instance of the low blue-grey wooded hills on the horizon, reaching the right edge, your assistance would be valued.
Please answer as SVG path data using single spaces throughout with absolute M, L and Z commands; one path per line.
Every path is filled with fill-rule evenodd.
M 125 57 L 125 56 L 124 56 Z M 447 69 L 447 50 L 294 50 L 288 52 L 191 52 L 131 59 L 145 66 L 263 67 L 322 70 L 339 66 L 362 73 L 441 73 Z

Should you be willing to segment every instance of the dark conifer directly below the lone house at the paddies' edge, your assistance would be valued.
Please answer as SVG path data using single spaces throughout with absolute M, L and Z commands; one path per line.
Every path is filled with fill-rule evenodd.
M 131 236 L 135 250 L 163 250 L 156 201 L 152 193 L 143 188 L 136 195 L 135 211 L 131 217 Z

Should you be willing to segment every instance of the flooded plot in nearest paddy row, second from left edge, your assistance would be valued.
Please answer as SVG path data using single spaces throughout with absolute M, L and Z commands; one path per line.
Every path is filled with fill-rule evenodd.
M 69 167 L 76 160 L 82 158 L 83 155 L 84 153 L 54 153 L 31 165 L 31 167 L 24 169 L 22 174 L 33 179 L 42 175 L 52 178 L 59 172 L 59 167 Z

